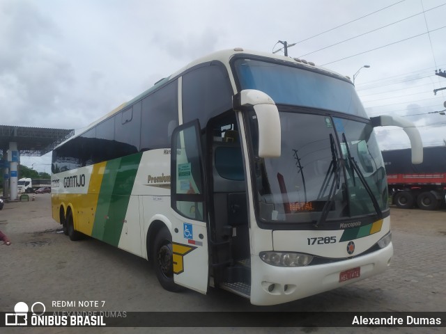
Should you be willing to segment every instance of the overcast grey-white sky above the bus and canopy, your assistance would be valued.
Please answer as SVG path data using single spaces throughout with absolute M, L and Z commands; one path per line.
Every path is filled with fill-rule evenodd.
M 369 116 L 405 116 L 443 145 L 446 0 L 0 0 L 3 125 L 82 129 L 212 51 L 289 55 L 353 78 Z M 378 129 L 383 149 L 406 148 Z M 49 159 L 22 157 L 49 172 Z

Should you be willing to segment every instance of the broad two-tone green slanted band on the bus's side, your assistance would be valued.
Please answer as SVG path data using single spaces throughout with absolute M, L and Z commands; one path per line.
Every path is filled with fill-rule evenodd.
M 107 162 L 91 236 L 118 246 L 142 153 Z

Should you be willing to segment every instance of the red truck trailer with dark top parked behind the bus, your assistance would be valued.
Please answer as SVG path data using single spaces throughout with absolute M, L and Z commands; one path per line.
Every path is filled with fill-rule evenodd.
M 446 207 L 446 146 L 423 149 L 422 164 L 410 161 L 410 149 L 388 150 L 383 154 L 392 203 L 403 209 L 423 210 Z

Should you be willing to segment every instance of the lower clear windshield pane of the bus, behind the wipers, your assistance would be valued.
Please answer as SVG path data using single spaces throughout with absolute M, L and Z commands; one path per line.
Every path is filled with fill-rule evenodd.
M 281 157 L 254 157 L 261 220 L 320 223 L 323 214 L 325 223 L 380 216 L 377 211 L 387 209 L 387 186 L 371 125 L 308 112 L 279 108 Z M 256 138 L 255 113 L 249 119 Z

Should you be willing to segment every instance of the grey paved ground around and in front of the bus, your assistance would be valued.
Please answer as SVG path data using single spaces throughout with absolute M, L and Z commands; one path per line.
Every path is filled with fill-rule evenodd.
M 40 301 L 105 301 L 100 311 L 440 311 L 446 312 L 446 210 L 424 212 L 392 207 L 394 259 L 380 276 L 273 307 L 217 289 L 207 296 L 173 294 L 157 283 L 148 263 L 94 239 L 70 241 L 50 216 L 50 195 L 30 202 L 6 203 L 0 230 L 13 244 L 0 244 L 0 312 L 15 303 Z M 72 309 L 71 309 L 72 310 Z M 77 308 L 76 310 L 79 310 Z M 259 314 L 261 317 L 261 314 Z M 224 327 L 224 323 L 222 323 Z M 22 333 L 24 328 L 2 328 Z M 79 328 L 27 328 L 32 333 L 78 333 Z M 392 333 L 426 333 L 426 328 L 387 328 Z M 151 333 L 177 333 L 179 328 L 151 328 Z M 190 328 L 194 333 L 380 333 L 383 328 Z M 430 328 L 443 333 L 444 328 Z M 83 333 L 123 333 L 123 328 L 91 328 Z M 125 332 L 146 333 L 147 328 Z M 188 330 L 189 331 L 189 330 Z M 31 333 L 31 331 L 29 331 Z

